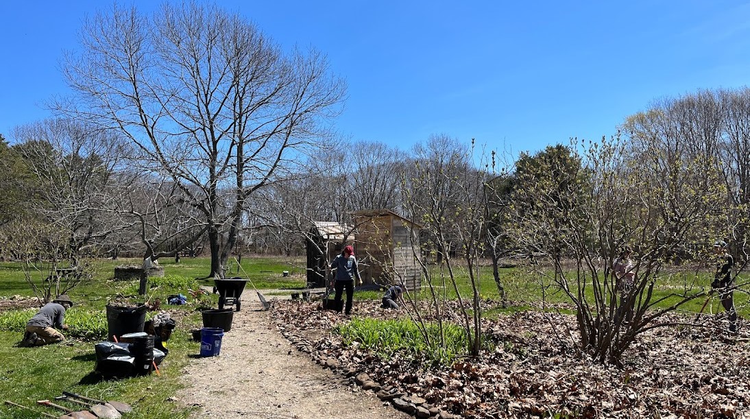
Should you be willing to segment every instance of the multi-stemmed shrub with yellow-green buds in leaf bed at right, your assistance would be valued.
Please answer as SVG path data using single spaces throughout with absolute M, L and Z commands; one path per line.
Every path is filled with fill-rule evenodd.
M 514 201 L 532 205 L 513 205 L 508 223 L 517 246 L 537 255 L 535 274 L 574 304 L 577 337 L 568 332 L 578 351 L 614 364 L 639 334 L 670 324 L 656 321 L 665 313 L 709 293 L 692 265 L 671 262 L 704 260 L 705 238 L 727 220 L 715 199 L 725 191 L 715 160 L 628 150 L 619 139 L 574 142 L 565 159 L 579 169 L 556 172 L 548 159 L 527 166 Z M 625 246 L 635 253 L 631 283 L 613 271 Z M 685 277 L 683 289 L 659 294 L 675 275 Z

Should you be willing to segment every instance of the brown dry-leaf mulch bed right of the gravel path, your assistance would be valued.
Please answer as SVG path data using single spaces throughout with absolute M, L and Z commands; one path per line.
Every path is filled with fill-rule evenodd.
M 367 373 L 392 393 L 422 397 L 425 406 L 462 418 L 750 418 L 750 345 L 715 329 L 652 329 L 617 368 L 574 355 L 566 332 L 574 330 L 573 316 L 527 311 L 484 320 L 484 333 L 496 346 L 481 359 L 461 358 L 436 369 L 345 346 L 332 328 L 347 319 L 320 303 L 278 301 L 272 310 L 284 336 L 321 364 L 348 376 Z M 406 315 L 376 303 L 357 304 L 354 313 Z M 708 322 L 721 326 L 722 320 Z M 747 330 L 745 322 L 740 326 Z

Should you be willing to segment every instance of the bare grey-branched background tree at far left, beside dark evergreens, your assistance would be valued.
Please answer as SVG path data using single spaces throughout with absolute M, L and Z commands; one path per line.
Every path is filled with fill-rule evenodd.
M 71 254 L 96 248 L 122 228 L 102 211 L 115 185 L 123 143 L 113 133 L 71 120 L 17 127 L 17 149 L 31 175 L 26 205 L 65 235 Z M 98 250 L 98 249 L 96 249 Z

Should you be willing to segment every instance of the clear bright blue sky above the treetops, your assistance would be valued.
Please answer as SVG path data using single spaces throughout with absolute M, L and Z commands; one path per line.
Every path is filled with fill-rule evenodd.
M 338 129 L 408 148 L 431 134 L 535 151 L 611 135 L 658 97 L 750 78 L 740 1 L 216 1 L 344 76 Z M 124 4 L 130 4 L 124 2 Z M 152 10 L 155 1 L 136 1 Z M 58 67 L 107 1 L 0 4 L 0 133 L 49 116 Z

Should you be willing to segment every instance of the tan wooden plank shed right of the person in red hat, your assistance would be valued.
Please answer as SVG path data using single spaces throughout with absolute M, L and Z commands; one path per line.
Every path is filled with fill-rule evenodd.
M 356 256 L 362 282 L 403 283 L 410 291 L 422 288 L 419 255 L 421 226 L 389 210 L 358 211 Z

